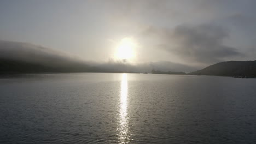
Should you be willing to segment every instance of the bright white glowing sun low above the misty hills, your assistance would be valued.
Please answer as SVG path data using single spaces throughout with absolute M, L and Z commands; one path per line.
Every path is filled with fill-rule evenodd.
M 124 38 L 117 46 L 116 56 L 121 60 L 131 60 L 135 57 L 136 44 L 132 38 Z

